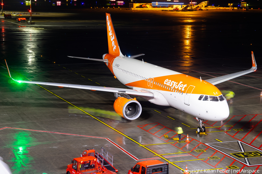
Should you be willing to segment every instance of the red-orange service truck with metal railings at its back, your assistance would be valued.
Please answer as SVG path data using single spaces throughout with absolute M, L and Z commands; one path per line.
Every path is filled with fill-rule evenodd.
M 87 149 L 67 165 L 66 174 L 116 174 L 118 170 L 113 167 L 113 156 L 105 151 L 103 147 L 100 153 L 93 148 Z

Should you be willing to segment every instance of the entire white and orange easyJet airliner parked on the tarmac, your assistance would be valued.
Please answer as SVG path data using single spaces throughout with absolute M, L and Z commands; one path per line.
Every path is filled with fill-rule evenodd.
M 257 69 L 253 52 L 251 69 L 208 80 L 197 79 L 134 59 L 144 54 L 126 57 L 120 51 L 109 13 L 106 13 L 106 22 L 109 53 L 104 54 L 103 59 L 74 58 L 105 62 L 115 78 L 130 89 L 13 80 L 20 83 L 112 92 L 116 97 L 114 102 L 116 113 L 129 120 L 137 119 L 142 111 L 139 102 L 129 95 L 139 96 L 151 103 L 161 106 L 172 106 L 196 117 L 199 121 L 197 131 L 205 132 L 205 127 L 202 124 L 203 120 L 222 121 L 229 116 L 229 107 L 226 99 L 214 85 L 251 73 Z M 8 73 L 10 75 L 9 69 Z

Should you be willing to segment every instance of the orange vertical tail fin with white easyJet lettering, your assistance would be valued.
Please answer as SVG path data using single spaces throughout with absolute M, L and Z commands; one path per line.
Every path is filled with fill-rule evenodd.
M 114 30 L 110 13 L 106 13 L 106 19 L 107 19 L 107 41 L 108 41 L 109 54 L 114 56 L 123 56 L 123 54 L 120 51 L 118 41 L 116 39 L 116 33 Z

